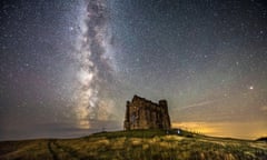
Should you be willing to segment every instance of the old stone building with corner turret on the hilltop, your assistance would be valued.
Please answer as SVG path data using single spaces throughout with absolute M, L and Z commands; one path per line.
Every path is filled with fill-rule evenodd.
M 135 96 L 126 103 L 125 130 L 170 129 L 170 118 L 166 100 L 159 103 Z

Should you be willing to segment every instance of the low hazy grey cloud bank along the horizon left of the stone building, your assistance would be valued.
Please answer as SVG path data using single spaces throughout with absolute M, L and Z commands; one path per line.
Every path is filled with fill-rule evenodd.
M 0 140 L 24 140 L 39 138 L 77 138 L 95 132 L 121 130 L 122 127 L 115 120 L 92 120 L 90 128 L 77 127 L 75 122 L 32 122 L 0 128 Z

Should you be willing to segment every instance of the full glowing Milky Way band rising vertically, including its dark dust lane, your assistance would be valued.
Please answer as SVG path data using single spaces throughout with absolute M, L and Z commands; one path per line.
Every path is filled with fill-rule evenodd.
M 73 107 L 80 128 L 93 128 L 93 122 L 111 120 L 115 102 L 115 66 L 111 36 L 108 30 L 108 10 L 103 0 L 91 0 L 85 3 L 80 18 L 80 34 L 77 37 L 78 80 L 79 87 Z

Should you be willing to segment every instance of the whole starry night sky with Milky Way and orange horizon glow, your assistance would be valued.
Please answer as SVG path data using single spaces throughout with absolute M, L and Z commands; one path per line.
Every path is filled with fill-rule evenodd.
M 264 0 L 0 3 L 0 140 L 121 130 L 134 94 L 172 127 L 267 136 Z

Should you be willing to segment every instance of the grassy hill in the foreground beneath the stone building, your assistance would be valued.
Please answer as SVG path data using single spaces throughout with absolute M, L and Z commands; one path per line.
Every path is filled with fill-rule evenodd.
M 267 142 L 135 130 L 0 142 L 0 160 L 266 160 Z

